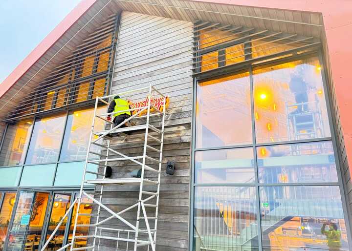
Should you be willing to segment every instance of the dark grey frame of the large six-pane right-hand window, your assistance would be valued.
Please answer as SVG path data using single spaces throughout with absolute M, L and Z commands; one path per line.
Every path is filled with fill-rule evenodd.
M 194 42 L 194 45 L 197 45 Z M 245 50 L 245 48 L 244 48 Z M 198 55 L 197 55 L 198 56 Z M 263 62 L 262 60 L 258 60 L 258 63 L 250 62 L 249 64 L 241 64 L 239 67 L 231 67 L 230 65 L 224 67 L 227 72 L 224 74 L 223 71 L 216 71 L 214 70 L 214 75 L 208 75 L 207 73 L 201 74 L 201 72 L 197 72 L 200 75 L 195 75 L 193 79 L 193 104 L 192 104 L 192 136 L 191 136 L 191 163 L 190 163 L 190 204 L 189 204 L 189 229 L 188 229 L 188 241 L 189 241 L 189 250 L 193 251 L 194 248 L 194 223 L 195 223 L 195 188 L 196 187 L 216 187 L 216 186 L 241 186 L 241 187 L 254 187 L 256 191 L 256 205 L 257 205 L 257 223 L 258 223 L 258 245 L 259 251 L 263 251 L 262 239 L 263 239 L 263 232 L 262 232 L 262 215 L 261 215 L 261 205 L 260 205 L 260 188 L 261 187 L 288 187 L 288 186 L 338 186 L 339 191 L 341 194 L 341 202 L 342 202 L 342 210 L 344 213 L 344 219 L 346 224 L 347 230 L 347 239 L 349 242 L 349 246 L 352 246 L 352 234 L 351 234 L 351 219 L 352 217 L 349 215 L 349 210 L 347 207 L 347 194 L 346 194 L 346 182 L 343 175 L 343 169 L 341 168 L 341 154 L 337 147 L 337 135 L 336 135 L 336 125 L 332 117 L 332 107 L 331 107 L 331 100 L 330 100 L 330 90 L 328 88 L 328 82 L 326 79 L 326 72 L 325 72 L 325 62 L 323 60 L 322 51 L 319 48 L 318 50 L 308 51 L 306 53 L 297 54 L 294 53 L 291 56 L 285 58 L 275 59 L 277 55 L 272 55 L 273 60 L 269 62 Z M 285 62 L 292 62 L 296 59 L 304 59 L 308 57 L 317 57 L 320 65 L 321 65 L 321 76 L 323 82 L 323 90 L 324 90 L 324 99 L 327 106 L 327 114 L 328 114 L 328 121 L 329 121 L 329 129 L 330 129 L 330 137 L 324 138 L 315 138 L 315 139 L 301 139 L 301 140 L 293 140 L 293 141 L 282 141 L 282 142 L 269 142 L 269 143 L 257 143 L 256 140 L 256 133 L 255 133 L 255 114 L 254 114 L 254 87 L 253 87 L 253 68 L 258 68 L 260 66 L 267 66 L 270 64 L 279 64 Z M 254 62 L 255 59 L 254 59 Z M 197 67 L 200 66 L 200 62 L 195 62 Z M 198 82 L 200 80 L 208 80 L 212 78 L 220 78 L 226 75 L 236 74 L 237 72 L 247 69 L 249 71 L 249 81 L 250 81 L 250 100 L 251 100 L 251 118 L 252 118 L 252 138 L 253 143 L 247 145 L 234 145 L 234 146 L 217 146 L 217 147 L 204 147 L 204 148 L 197 148 L 196 147 L 196 101 L 197 101 L 197 88 Z M 336 172 L 337 172 L 337 182 L 316 182 L 316 183 L 283 183 L 283 184 L 261 184 L 259 183 L 258 178 L 258 157 L 257 157 L 257 150 L 258 146 L 277 146 L 277 145 L 286 145 L 286 144 L 297 144 L 297 143 L 309 143 L 309 142 L 322 142 L 322 141 L 331 141 L 335 163 L 336 163 Z M 224 183 L 224 184 L 197 184 L 195 180 L 195 156 L 197 151 L 206 151 L 206 150 L 220 150 L 220 149 L 236 149 L 242 147 L 253 147 L 253 156 L 254 156 L 254 175 L 255 175 L 255 182 L 253 184 L 248 183 Z

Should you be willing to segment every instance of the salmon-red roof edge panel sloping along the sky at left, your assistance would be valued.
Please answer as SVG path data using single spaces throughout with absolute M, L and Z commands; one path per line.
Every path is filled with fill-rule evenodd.
M 51 48 L 65 32 L 96 2 L 96 0 L 82 0 L 61 21 L 37 47 L 10 73 L 0 84 L 0 98 L 36 63 L 45 52 Z

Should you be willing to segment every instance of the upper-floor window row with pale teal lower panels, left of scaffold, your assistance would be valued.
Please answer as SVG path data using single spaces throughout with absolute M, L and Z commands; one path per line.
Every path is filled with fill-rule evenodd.
M 93 108 L 79 109 L 8 125 L 0 151 L 0 187 L 79 186 L 93 113 Z M 104 113 L 103 108 L 98 113 Z M 96 128 L 104 129 L 102 120 L 95 121 Z M 90 149 L 101 151 L 98 146 Z M 88 169 L 95 172 L 97 166 L 89 164 Z M 86 175 L 86 179 L 95 178 Z

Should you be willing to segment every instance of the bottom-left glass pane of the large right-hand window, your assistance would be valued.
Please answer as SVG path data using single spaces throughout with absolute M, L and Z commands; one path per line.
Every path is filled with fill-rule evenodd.
M 254 187 L 196 187 L 194 251 L 257 251 Z

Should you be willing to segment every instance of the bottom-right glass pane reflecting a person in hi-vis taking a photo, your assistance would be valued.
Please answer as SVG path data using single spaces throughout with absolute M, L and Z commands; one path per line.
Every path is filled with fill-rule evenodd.
M 348 251 L 339 187 L 260 188 L 263 250 Z

